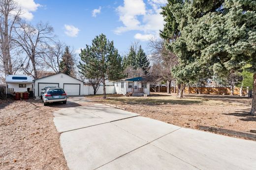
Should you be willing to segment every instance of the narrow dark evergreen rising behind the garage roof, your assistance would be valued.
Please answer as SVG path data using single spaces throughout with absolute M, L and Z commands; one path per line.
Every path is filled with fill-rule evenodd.
M 74 64 L 75 64 L 74 58 L 70 53 L 69 47 L 67 46 L 62 56 L 62 61 L 60 62 L 60 68 L 59 68 L 60 73 L 75 76 Z

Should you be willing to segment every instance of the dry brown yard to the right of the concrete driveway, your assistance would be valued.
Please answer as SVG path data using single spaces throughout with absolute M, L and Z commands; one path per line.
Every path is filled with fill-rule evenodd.
M 151 97 L 91 98 L 97 102 L 117 105 L 141 116 L 182 127 L 196 125 L 224 127 L 249 132 L 256 128 L 256 117 L 248 115 L 252 99 L 222 95 L 185 95 L 152 93 Z

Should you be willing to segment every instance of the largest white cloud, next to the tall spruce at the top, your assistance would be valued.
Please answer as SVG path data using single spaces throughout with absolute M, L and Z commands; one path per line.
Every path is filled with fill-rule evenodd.
M 148 6 L 143 0 L 124 0 L 124 5 L 117 8 L 119 20 L 123 26 L 115 29 L 116 34 L 126 31 L 137 30 L 144 34 L 137 33 L 134 38 L 147 41 L 150 36 L 158 37 L 159 30 L 163 28 L 163 17 L 160 14 L 161 6 L 166 0 L 147 0 Z

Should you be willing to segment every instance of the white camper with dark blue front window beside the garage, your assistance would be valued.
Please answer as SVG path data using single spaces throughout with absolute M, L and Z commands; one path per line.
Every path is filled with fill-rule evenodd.
M 33 77 L 31 75 L 6 75 L 6 93 L 23 93 L 33 91 Z

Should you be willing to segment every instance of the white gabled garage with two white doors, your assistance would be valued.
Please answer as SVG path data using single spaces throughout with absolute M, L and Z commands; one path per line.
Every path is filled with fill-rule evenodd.
M 67 96 L 83 95 L 84 82 L 66 75 L 64 73 L 57 73 L 46 77 L 34 80 L 34 95 L 40 96 L 44 86 L 63 88 Z

